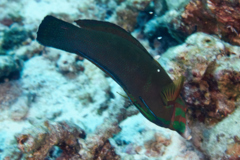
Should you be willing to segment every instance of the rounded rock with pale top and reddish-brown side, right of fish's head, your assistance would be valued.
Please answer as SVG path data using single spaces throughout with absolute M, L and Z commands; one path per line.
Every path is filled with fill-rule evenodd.
M 218 128 L 221 123 L 233 118 L 232 113 L 239 106 L 239 51 L 240 47 L 214 36 L 195 33 L 184 44 L 169 49 L 159 60 L 173 78 L 186 76 L 182 95 L 189 106 L 192 141 L 204 152 L 207 149 L 203 144 L 213 134 L 211 128 Z M 238 126 L 235 123 L 232 125 L 234 128 Z M 221 133 L 225 129 L 218 128 L 216 132 Z M 222 147 L 226 148 L 226 144 Z M 206 155 L 218 157 L 209 152 Z

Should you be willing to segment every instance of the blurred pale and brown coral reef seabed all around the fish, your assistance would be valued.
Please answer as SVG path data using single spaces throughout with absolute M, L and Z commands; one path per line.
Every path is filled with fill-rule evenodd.
M 0 0 L 0 159 L 240 159 L 239 0 Z M 115 23 L 174 80 L 191 140 L 94 64 L 36 41 L 46 15 Z M 67 43 L 67 41 L 66 41 Z

